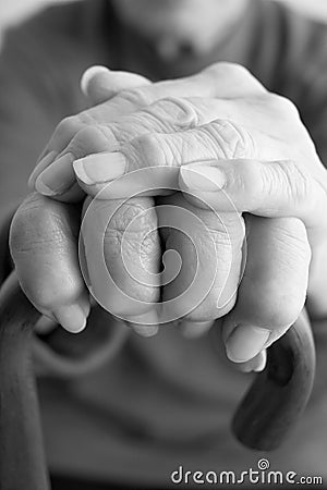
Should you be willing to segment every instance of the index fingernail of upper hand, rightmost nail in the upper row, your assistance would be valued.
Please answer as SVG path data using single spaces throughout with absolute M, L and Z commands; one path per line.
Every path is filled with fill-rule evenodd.
M 217 192 L 226 185 L 226 174 L 220 168 L 202 163 L 182 166 L 180 180 L 182 187 L 194 191 Z

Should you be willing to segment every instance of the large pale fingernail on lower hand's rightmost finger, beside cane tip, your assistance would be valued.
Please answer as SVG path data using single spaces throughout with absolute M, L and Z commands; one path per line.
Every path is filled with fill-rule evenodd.
M 269 330 L 239 324 L 226 342 L 228 358 L 233 363 L 245 363 L 252 359 L 264 348 L 269 335 Z

